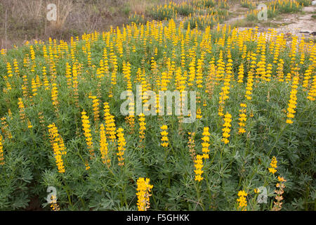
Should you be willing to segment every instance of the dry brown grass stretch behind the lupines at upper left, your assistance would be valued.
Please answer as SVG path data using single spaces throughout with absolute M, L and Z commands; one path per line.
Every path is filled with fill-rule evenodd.
M 129 22 L 130 13 L 145 13 L 164 0 L 1 0 L 0 49 L 26 40 L 71 36 L 108 30 Z M 46 19 L 48 4 L 57 6 L 57 20 Z

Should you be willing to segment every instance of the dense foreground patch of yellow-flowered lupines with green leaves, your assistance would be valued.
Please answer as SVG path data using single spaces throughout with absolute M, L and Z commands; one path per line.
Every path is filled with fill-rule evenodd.
M 314 210 L 315 67 L 307 39 L 173 18 L 1 49 L 0 209 Z M 138 85 L 197 119 L 122 115 Z

